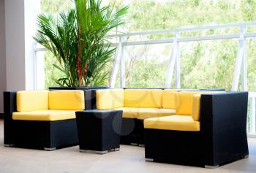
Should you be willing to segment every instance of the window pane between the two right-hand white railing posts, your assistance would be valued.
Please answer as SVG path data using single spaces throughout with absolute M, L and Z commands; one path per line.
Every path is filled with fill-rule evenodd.
M 230 90 L 238 50 L 236 39 L 181 43 L 181 88 Z

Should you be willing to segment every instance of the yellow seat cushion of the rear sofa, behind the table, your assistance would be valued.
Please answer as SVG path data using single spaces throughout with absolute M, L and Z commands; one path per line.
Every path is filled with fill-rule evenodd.
M 138 107 L 121 107 L 115 108 L 123 110 L 123 118 L 157 118 L 162 116 L 175 115 L 175 109 L 158 109 L 158 108 L 138 108 Z

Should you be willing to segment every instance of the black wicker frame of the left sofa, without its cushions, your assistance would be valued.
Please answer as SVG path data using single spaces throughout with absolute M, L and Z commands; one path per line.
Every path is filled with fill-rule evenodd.
M 4 144 L 36 149 L 78 145 L 76 120 L 12 120 L 16 92 L 4 92 Z

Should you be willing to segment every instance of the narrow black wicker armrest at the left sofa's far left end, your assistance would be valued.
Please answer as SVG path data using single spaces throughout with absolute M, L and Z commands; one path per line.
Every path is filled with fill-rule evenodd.
M 16 92 L 4 92 L 4 144 L 12 144 L 12 112 L 17 111 Z

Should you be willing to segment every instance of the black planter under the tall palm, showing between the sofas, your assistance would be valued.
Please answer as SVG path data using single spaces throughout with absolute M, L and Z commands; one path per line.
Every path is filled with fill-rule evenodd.
M 84 91 L 86 109 L 96 109 L 96 91 L 99 89 L 107 89 L 107 86 L 99 87 L 49 87 L 50 91 L 53 90 L 81 90 Z

